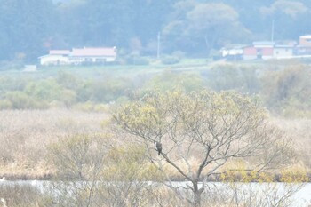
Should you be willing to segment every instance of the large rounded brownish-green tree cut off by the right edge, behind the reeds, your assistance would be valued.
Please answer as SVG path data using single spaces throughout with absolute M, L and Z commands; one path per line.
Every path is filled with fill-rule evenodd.
M 310 68 L 295 65 L 267 72 L 262 78 L 262 97 L 267 106 L 288 117 L 309 117 L 311 111 Z

